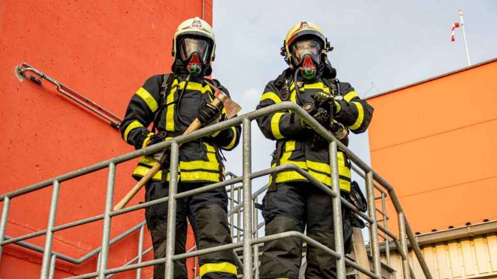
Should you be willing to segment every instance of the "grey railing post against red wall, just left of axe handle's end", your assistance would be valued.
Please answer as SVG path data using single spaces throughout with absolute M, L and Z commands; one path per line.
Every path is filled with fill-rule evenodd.
M 116 178 L 116 165 L 109 164 L 109 172 L 107 175 L 107 192 L 105 193 L 105 209 L 103 215 L 102 229 L 102 248 L 100 250 L 100 264 L 98 265 L 98 279 L 105 279 L 105 271 L 107 270 L 107 260 L 109 257 L 109 239 L 110 239 L 110 212 L 112 211 L 112 202 L 114 198 L 114 182 Z

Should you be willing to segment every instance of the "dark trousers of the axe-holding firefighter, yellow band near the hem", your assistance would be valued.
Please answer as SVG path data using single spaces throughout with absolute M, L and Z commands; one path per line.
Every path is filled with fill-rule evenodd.
M 178 183 L 178 193 L 200 188 L 210 183 Z M 145 201 L 168 196 L 168 182 L 151 181 L 145 185 Z M 167 204 L 146 208 L 145 218 L 152 236 L 155 259 L 166 257 Z M 185 253 L 186 232 L 190 221 L 197 248 L 204 249 L 232 243 L 228 227 L 226 189 L 221 187 L 209 192 L 177 200 L 176 240 L 174 254 Z M 236 279 L 237 267 L 231 250 L 200 256 L 202 279 Z M 165 265 L 154 266 L 154 279 L 164 279 Z M 186 259 L 174 261 L 174 279 L 188 279 Z

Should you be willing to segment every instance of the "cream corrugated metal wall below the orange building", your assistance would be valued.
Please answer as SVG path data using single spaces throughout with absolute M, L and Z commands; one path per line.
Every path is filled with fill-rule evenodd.
M 426 245 L 422 253 L 434 279 L 497 279 L 497 235 L 495 233 Z M 382 261 L 386 262 L 385 255 L 382 256 Z M 409 256 L 416 279 L 424 278 L 412 251 Z M 397 270 L 392 279 L 403 279 L 400 254 L 392 251 L 390 261 L 391 267 Z

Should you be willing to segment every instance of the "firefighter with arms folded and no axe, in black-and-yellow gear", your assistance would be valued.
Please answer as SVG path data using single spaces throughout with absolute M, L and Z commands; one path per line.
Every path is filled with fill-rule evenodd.
M 313 23 L 301 21 L 286 35 L 281 54 L 289 68 L 269 81 L 257 109 L 291 101 L 303 107 L 344 144 L 348 131 L 366 131 L 373 108 L 361 100 L 349 83 L 339 82 L 327 52 L 330 43 Z M 331 187 L 328 141 L 319 136 L 298 115 L 276 112 L 257 119 L 268 139 L 276 140 L 271 167 L 295 164 Z M 344 197 L 350 192 L 350 161 L 338 150 L 339 188 Z M 285 231 L 304 232 L 334 248 L 331 197 L 296 171 L 270 176 L 262 202 L 266 235 Z M 361 226 L 353 212 L 342 209 L 345 250 L 350 250 L 352 225 Z M 363 225 L 363 224 L 362 224 Z M 306 279 L 336 278 L 335 259 L 326 252 L 307 246 Z M 302 241 L 285 238 L 264 244 L 260 278 L 298 279 L 302 261 Z

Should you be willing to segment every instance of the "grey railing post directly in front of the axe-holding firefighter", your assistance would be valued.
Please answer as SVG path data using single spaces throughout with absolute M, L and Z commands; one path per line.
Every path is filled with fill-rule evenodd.
M 167 200 L 167 239 L 166 239 L 166 276 L 165 279 L 173 279 L 174 245 L 176 242 L 176 193 L 178 190 L 178 165 L 179 145 L 176 141 L 171 143 L 171 161 L 169 164 L 169 199 Z M 164 173 L 166 175 L 166 173 Z

